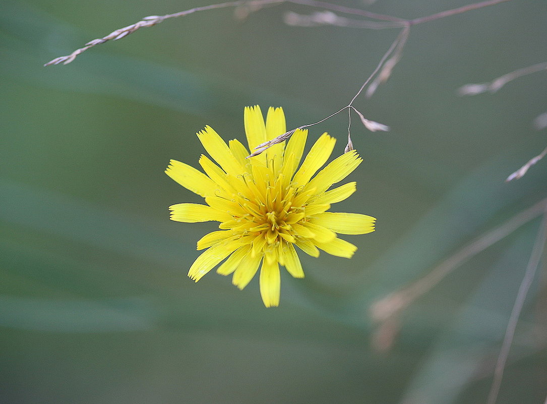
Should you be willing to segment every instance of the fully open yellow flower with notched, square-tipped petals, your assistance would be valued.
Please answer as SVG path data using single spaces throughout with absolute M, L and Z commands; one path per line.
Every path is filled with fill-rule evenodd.
M 250 151 L 286 131 L 281 108 L 270 107 L 266 123 L 260 107 L 245 108 Z M 278 143 L 249 159 L 249 150 L 240 141 L 230 140 L 226 145 L 210 126 L 197 137 L 217 164 L 202 154 L 199 163 L 205 174 L 176 160 L 171 160 L 165 171 L 184 188 L 205 198 L 205 205 L 170 206 L 171 220 L 220 222 L 220 230 L 197 241 L 197 250 L 207 250 L 188 272 L 196 282 L 227 258 L 217 272 L 233 273 L 232 283 L 243 289 L 261 264 L 260 294 L 266 307 L 274 307 L 280 299 L 280 264 L 294 278 L 304 278 L 295 245 L 312 257 L 319 256 L 319 248 L 350 258 L 357 247 L 337 238 L 336 233 L 374 231 L 374 217 L 327 212 L 330 204 L 349 197 L 356 183 L 328 189 L 356 169 L 362 159 L 353 150 L 317 172 L 327 162 L 336 141 L 326 133 L 315 142 L 300 167 L 307 130 L 296 130 L 287 145 Z

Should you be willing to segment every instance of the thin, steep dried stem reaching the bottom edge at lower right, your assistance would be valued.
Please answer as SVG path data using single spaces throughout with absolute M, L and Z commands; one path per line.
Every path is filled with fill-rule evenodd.
M 532 281 L 536 276 L 536 271 L 539 266 L 539 261 L 543 255 L 545 249 L 545 240 L 547 239 L 547 216 L 543 216 L 543 221 L 540 224 L 538 234 L 536 236 L 536 242 L 530 258 L 528 260 L 528 266 L 526 267 L 526 272 L 522 279 L 522 282 L 519 287 L 519 292 L 517 293 L 515 304 L 513 305 L 513 310 L 511 310 L 511 315 L 509 316 L 509 323 L 507 329 L 505 330 L 505 336 L 503 338 L 502 348 L 499 351 L 498 360 L 496 363 L 496 368 L 494 368 L 494 380 L 490 388 L 490 393 L 488 394 L 487 404 L 495 404 L 498 398 L 499 388 L 502 384 L 503 371 L 505 369 L 505 363 L 509 356 L 509 350 L 511 348 L 511 343 L 513 343 L 513 337 L 515 335 L 515 329 L 517 322 L 519 321 L 520 313 Z

